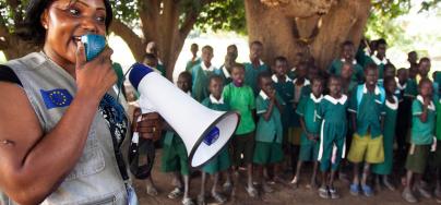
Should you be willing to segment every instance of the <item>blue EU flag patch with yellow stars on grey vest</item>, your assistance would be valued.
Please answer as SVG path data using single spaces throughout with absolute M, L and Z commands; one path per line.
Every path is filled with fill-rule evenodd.
M 61 108 L 71 105 L 72 95 L 67 89 L 40 89 L 47 109 Z

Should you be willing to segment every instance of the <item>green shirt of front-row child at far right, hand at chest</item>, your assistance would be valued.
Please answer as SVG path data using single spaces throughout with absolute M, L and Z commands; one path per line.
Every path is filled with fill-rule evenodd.
M 412 143 L 415 145 L 430 145 L 433 140 L 436 108 L 433 102 L 427 109 L 427 121 L 421 122 L 419 116 L 422 113 L 422 97 L 417 96 L 412 102 Z

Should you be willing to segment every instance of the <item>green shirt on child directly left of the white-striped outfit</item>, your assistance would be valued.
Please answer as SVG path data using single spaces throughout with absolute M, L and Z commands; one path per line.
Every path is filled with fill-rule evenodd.
M 300 116 L 300 118 L 303 118 L 305 128 L 308 133 L 320 133 L 322 120 L 319 116 L 319 108 L 322 98 L 322 96 L 315 98 L 313 94 L 310 94 L 309 97 L 301 98 L 299 105 L 297 106 L 296 112 Z

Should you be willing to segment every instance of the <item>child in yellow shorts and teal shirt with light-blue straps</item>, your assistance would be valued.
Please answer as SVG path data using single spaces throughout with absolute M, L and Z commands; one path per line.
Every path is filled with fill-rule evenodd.
M 358 195 L 361 185 L 366 196 L 372 196 L 373 191 L 367 184 L 371 164 L 384 161 L 382 121 L 384 117 L 385 93 L 377 85 L 378 67 L 373 63 L 365 69 L 366 83 L 358 85 L 353 92 L 350 109 L 354 137 L 347 159 L 354 164 L 354 180 L 350 193 Z M 365 162 L 361 183 L 359 179 L 359 165 Z

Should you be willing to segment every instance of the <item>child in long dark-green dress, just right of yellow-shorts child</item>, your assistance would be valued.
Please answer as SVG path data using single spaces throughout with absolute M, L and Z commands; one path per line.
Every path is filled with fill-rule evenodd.
M 380 176 L 382 176 L 383 184 L 391 191 L 394 191 L 394 185 L 389 181 L 389 174 L 391 174 L 393 166 L 395 124 L 398 109 L 398 98 L 394 96 L 396 89 L 394 76 L 386 76 L 384 79 L 384 88 L 386 93 L 383 132 L 384 161 L 382 164 L 373 165 L 372 172 L 378 174 L 376 178 L 377 185 L 380 185 Z

